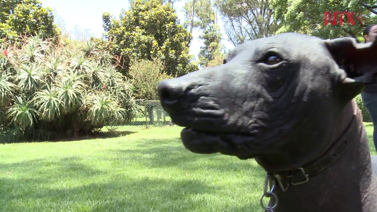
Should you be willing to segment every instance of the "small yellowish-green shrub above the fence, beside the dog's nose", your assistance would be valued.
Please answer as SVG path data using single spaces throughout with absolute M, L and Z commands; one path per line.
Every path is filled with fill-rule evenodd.
M 162 71 L 163 62 L 158 58 L 153 60 L 133 60 L 130 63 L 129 74 L 133 78 L 136 98 L 144 100 L 158 100 L 157 86 L 164 79 L 173 78 Z

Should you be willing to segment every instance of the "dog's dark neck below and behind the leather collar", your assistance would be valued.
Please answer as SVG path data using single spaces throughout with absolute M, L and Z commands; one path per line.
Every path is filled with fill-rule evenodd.
M 357 129 L 349 137 L 350 146 L 337 160 L 315 177 L 283 190 L 276 184 L 278 204 L 274 212 L 342 211 L 372 212 L 377 208 L 377 181 L 372 172 L 368 139 L 361 113 L 354 101 L 343 110 L 339 125 L 334 131 L 333 143 L 349 129 Z M 356 118 L 356 121 L 352 121 Z M 353 126 L 352 126 L 353 125 Z M 271 206 L 274 200 L 271 199 Z

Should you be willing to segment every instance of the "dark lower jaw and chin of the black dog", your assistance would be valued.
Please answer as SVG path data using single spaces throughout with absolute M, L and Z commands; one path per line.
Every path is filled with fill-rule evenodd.
M 243 160 L 258 156 L 257 151 L 250 147 L 255 140 L 253 135 L 222 134 L 184 128 L 181 131 L 181 139 L 186 149 L 198 154 L 220 152 Z

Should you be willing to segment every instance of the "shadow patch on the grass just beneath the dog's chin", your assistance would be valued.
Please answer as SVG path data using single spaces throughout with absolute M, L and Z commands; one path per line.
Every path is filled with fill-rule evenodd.
M 138 160 L 138 163 L 143 163 L 143 166 L 150 168 L 178 167 L 191 171 L 203 167 L 217 171 L 253 170 L 262 173 L 260 177 L 264 177 L 264 169 L 256 163 L 250 163 L 250 160 L 254 159 L 240 160 L 235 156 L 220 153 L 196 154 L 186 149 L 180 138 L 151 139 L 135 146 L 136 148 L 133 149 L 115 150 L 113 153 L 120 160 Z M 148 160 L 139 160 L 143 155 L 148 156 Z M 197 163 L 198 161 L 201 163 Z

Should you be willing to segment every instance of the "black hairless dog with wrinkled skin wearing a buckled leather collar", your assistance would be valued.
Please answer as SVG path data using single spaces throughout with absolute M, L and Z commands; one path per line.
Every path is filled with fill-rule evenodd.
M 353 98 L 377 83 L 376 55 L 377 41 L 284 33 L 161 81 L 158 93 L 187 149 L 255 158 L 267 172 L 266 211 L 375 212 L 377 178 Z

